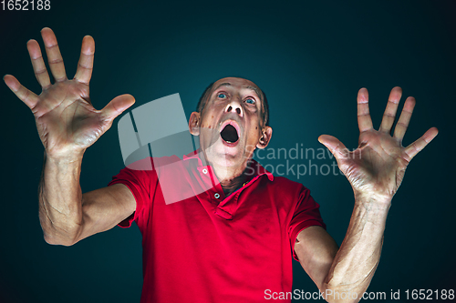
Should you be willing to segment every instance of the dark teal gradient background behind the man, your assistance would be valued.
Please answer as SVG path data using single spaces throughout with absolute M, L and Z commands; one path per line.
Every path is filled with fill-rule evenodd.
M 413 159 L 393 200 L 368 289 L 388 294 L 400 289 L 405 301 L 406 289 L 456 287 L 455 15 L 454 1 L 51 0 L 47 12 L 0 12 L 0 74 L 12 74 L 39 93 L 26 42 L 34 38 L 42 45 L 39 31 L 49 26 L 69 77 L 76 72 L 82 37 L 94 37 L 90 87 L 97 108 L 120 94 L 130 93 L 140 106 L 180 93 L 190 116 L 210 82 L 244 76 L 270 100 L 273 148 L 322 147 L 317 142 L 321 134 L 354 148 L 358 89 L 368 88 L 378 127 L 390 89 L 401 86 L 405 97 L 417 99 L 404 144 L 430 126 L 440 130 Z M 73 247 L 44 241 L 37 216 L 43 146 L 30 110 L 3 83 L 0 98 L 0 302 L 139 302 L 141 236 L 136 225 L 115 227 Z M 88 148 L 83 191 L 106 186 L 122 167 L 116 120 Z M 328 232 L 340 245 L 353 207 L 347 180 L 307 175 L 299 181 L 312 190 Z M 295 288 L 316 291 L 294 263 Z

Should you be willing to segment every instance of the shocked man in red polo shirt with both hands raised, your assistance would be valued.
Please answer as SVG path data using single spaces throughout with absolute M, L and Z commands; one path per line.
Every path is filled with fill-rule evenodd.
M 254 148 L 268 145 L 272 128 L 264 94 L 243 78 L 223 78 L 206 90 L 189 121 L 192 135 L 200 136 L 201 150 L 184 158 L 181 167 L 125 168 L 109 187 L 82 194 L 79 175 L 85 150 L 134 99 L 118 96 L 102 110 L 94 109 L 88 97 L 93 39 L 84 37 L 76 76 L 68 80 L 56 36 L 49 28 L 41 33 L 56 83 L 50 83 L 35 40 L 27 48 L 41 95 L 14 76 L 4 79 L 32 109 L 46 149 L 39 217 L 47 243 L 70 246 L 118 224 L 130 226 L 134 219 L 143 235 L 142 302 L 264 301 L 271 292 L 292 290 L 292 253 L 327 301 L 361 298 L 378 266 L 391 199 L 411 158 L 438 133 L 430 128 L 410 146 L 401 146 L 414 98 L 407 98 L 390 136 L 400 88 L 392 89 L 378 131 L 362 88 L 358 149 L 348 152 L 337 138 L 319 137 L 355 194 L 347 236 L 338 248 L 308 189 L 273 177 L 251 160 Z M 159 177 L 165 183 L 172 179 L 176 190 L 211 182 L 213 187 L 168 205 Z

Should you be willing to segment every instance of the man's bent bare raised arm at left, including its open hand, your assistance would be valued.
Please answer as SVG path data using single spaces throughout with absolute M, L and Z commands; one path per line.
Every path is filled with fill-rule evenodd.
M 123 185 L 101 188 L 82 195 L 79 176 L 84 152 L 112 125 L 112 121 L 134 103 L 130 95 L 114 98 L 102 110 L 88 96 L 95 43 L 82 41 L 78 70 L 68 80 L 57 38 L 50 28 L 41 31 L 47 61 L 55 79 L 51 84 L 36 40 L 27 43 L 39 96 L 6 75 L 5 84 L 28 106 L 45 146 L 45 161 L 39 191 L 39 219 L 47 243 L 72 245 L 81 238 L 114 227 L 135 210 L 135 199 Z

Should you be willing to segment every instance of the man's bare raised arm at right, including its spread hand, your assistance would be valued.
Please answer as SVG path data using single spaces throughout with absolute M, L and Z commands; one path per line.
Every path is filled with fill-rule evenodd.
M 432 127 L 414 143 L 402 146 L 415 106 L 413 97 L 405 101 L 394 134 L 390 135 L 401 95 L 400 87 L 391 90 L 381 125 L 375 130 L 368 109 L 368 90 L 359 90 L 360 135 L 356 150 L 348 151 L 334 136 L 318 138 L 336 157 L 355 194 L 347 235 L 338 251 L 321 227 L 306 228 L 295 244 L 301 265 L 328 302 L 358 302 L 368 288 L 378 266 L 391 199 L 409 161 L 437 136 L 437 128 Z

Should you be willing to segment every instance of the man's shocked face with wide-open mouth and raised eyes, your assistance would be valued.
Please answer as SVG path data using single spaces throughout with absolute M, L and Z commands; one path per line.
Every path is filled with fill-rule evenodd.
M 200 146 L 212 165 L 238 167 L 252 157 L 264 131 L 260 89 L 252 81 L 218 80 L 202 109 Z

